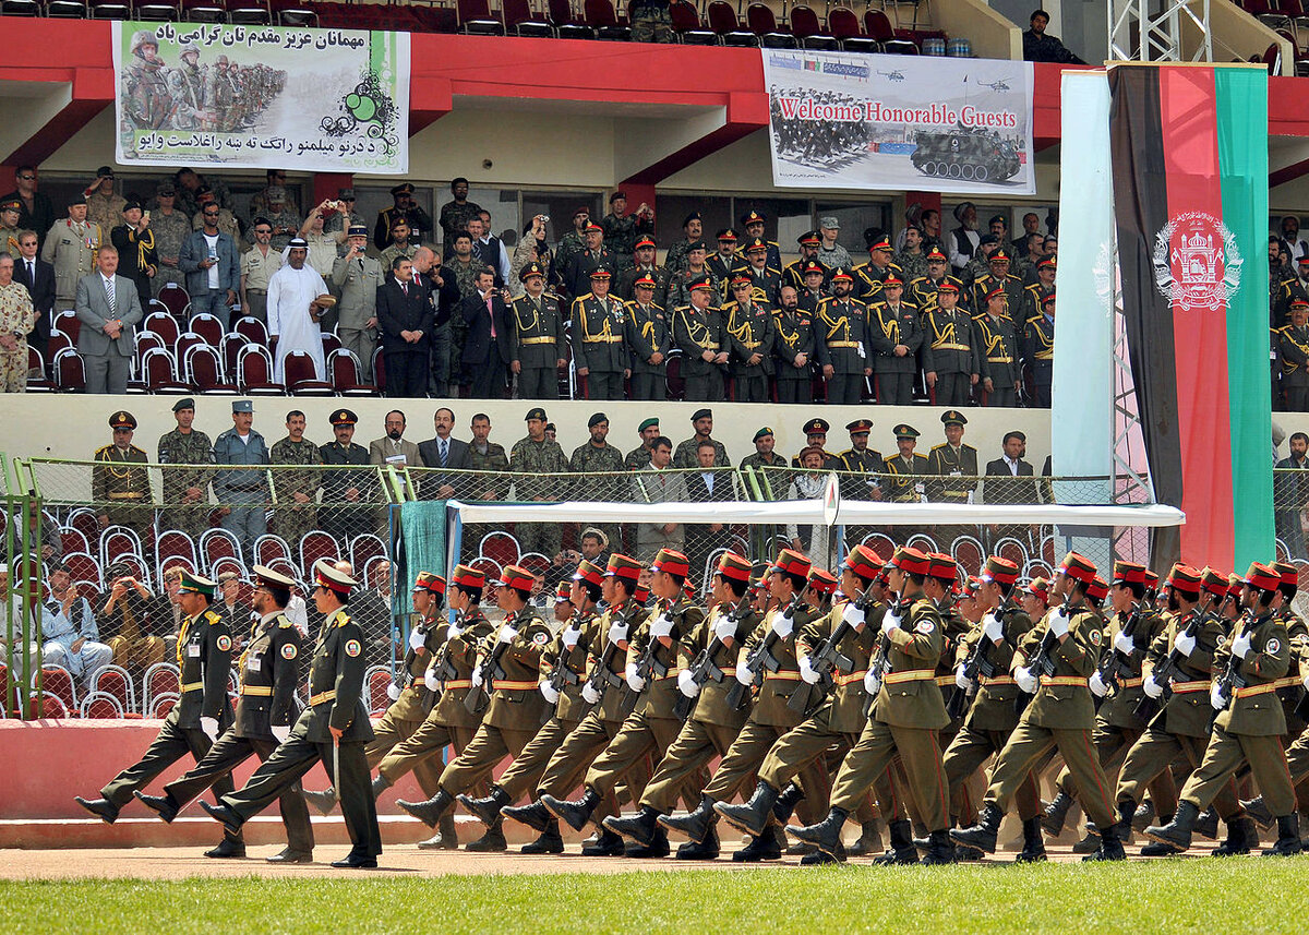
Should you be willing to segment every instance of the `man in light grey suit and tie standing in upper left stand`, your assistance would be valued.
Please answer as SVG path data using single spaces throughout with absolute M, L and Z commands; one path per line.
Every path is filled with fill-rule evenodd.
M 120 394 L 127 392 L 128 365 L 136 351 L 141 300 L 135 283 L 118 275 L 113 246 L 97 250 L 96 266 L 97 272 L 77 280 L 77 351 L 86 361 L 86 392 Z

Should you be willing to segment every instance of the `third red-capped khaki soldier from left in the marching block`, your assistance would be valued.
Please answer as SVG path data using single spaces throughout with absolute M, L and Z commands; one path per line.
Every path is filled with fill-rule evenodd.
M 429 828 L 454 804 L 454 796 L 490 778 L 505 756 L 517 757 L 541 727 L 545 698 L 537 689 L 541 655 L 552 636 L 550 625 L 537 615 L 531 598 L 531 572 L 508 564 L 496 581 L 496 604 L 505 612 L 504 622 L 478 647 L 478 667 L 473 689 L 484 688 L 491 695 L 473 741 L 441 773 L 436 795 L 425 801 L 398 800 L 397 804 Z M 467 845 L 470 851 L 507 850 L 500 822 Z

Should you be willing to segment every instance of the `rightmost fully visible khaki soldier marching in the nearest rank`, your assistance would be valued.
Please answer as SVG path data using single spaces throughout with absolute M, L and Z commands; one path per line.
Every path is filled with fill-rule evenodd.
M 1280 600 L 1278 572 L 1254 562 L 1241 589 L 1242 615 L 1233 639 L 1215 657 L 1215 670 L 1223 672 L 1210 690 L 1210 705 L 1217 711 L 1204 761 L 1182 787 L 1173 821 L 1145 829 L 1147 837 L 1185 851 L 1191 846 L 1191 829 L 1206 808 L 1236 775 L 1250 766 L 1263 792 L 1263 805 L 1278 821 L 1278 841 L 1264 855 L 1300 852 L 1300 815 L 1282 736 L 1287 718 L 1275 695 L 1276 682 L 1291 667 L 1291 640 L 1285 622 L 1276 614 Z

